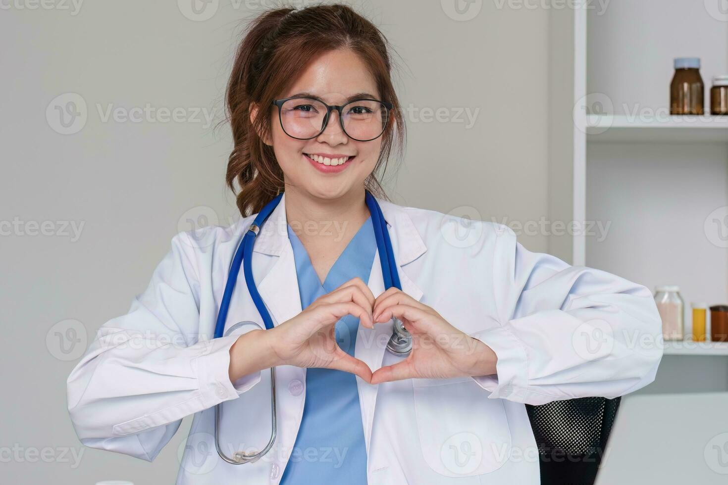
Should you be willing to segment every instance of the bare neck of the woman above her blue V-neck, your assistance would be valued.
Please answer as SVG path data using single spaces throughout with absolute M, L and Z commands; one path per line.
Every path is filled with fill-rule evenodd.
M 336 199 L 320 199 L 285 185 L 285 217 L 301 241 L 336 247 L 349 241 L 369 215 L 363 187 Z

